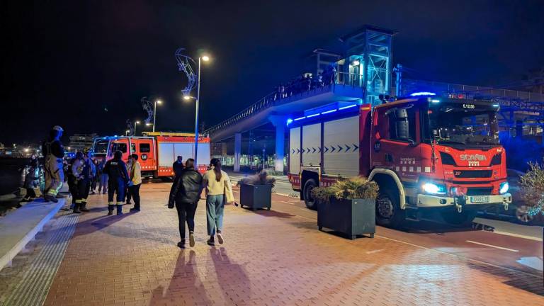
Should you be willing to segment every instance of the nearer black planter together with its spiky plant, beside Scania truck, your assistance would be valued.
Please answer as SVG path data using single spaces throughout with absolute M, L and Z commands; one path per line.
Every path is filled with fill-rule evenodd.
M 351 239 L 375 233 L 375 200 L 378 184 L 358 176 L 341 179 L 333 186 L 314 188 L 318 204 L 317 226 L 334 229 Z

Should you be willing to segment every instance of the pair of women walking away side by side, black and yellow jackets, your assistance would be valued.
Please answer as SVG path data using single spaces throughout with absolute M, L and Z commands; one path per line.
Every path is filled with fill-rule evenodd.
M 178 157 L 176 162 L 181 164 L 181 157 Z M 203 190 L 206 194 L 206 225 L 210 237 L 207 243 L 210 246 L 215 245 L 215 237 L 217 237 L 217 242 L 222 244 L 225 203 L 234 203 L 229 176 L 222 171 L 219 159 L 214 158 L 210 161 L 210 169 L 203 176 L 195 169 L 194 159 L 187 159 L 184 167 L 176 165 L 176 162 L 174 170 L 176 166 L 181 170 L 175 172 L 168 207 L 175 207 L 178 212 L 181 238 L 178 246 L 182 249 L 186 246 L 186 223 L 189 229 L 189 246 L 195 245 L 195 213 Z

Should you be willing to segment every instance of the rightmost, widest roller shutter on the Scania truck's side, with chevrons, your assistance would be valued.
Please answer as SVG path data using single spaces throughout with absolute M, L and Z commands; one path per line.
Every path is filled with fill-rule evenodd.
M 357 176 L 359 174 L 359 117 L 324 123 L 324 174 Z

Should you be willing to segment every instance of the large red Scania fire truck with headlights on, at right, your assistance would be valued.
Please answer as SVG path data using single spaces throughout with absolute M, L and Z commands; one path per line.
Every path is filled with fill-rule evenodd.
M 435 212 L 467 224 L 479 210 L 511 203 L 498 109 L 492 101 L 433 93 L 373 108 L 314 108 L 288 120 L 290 182 L 314 208 L 312 188 L 366 176 L 380 187 L 379 225 L 397 227 Z

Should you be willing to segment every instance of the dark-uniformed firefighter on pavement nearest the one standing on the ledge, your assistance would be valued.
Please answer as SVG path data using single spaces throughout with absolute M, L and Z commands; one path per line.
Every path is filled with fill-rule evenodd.
M 96 175 L 93 161 L 89 158 L 89 151 L 85 150 L 72 165 L 72 174 L 77 180 L 77 199 L 74 205 L 74 213 L 88 212 L 86 208 L 87 198 L 91 190 L 91 181 Z

